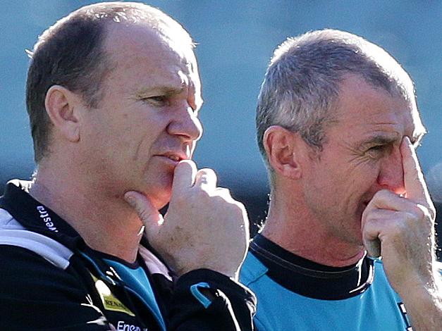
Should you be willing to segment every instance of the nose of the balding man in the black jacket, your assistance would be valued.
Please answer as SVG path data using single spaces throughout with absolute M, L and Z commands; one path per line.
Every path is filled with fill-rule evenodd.
M 187 106 L 175 112 L 175 116 L 168 125 L 170 135 L 182 136 L 183 139 L 196 141 L 202 135 L 202 124 L 197 117 L 197 113 Z

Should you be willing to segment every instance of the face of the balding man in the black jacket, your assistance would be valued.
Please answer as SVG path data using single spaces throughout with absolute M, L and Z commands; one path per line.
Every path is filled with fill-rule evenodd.
M 143 24 L 113 24 L 105 49 L 114 68 L 82 132 L 87 168 L 96 171 L 91 185 L 113 196 L 137 190 L 160 208 L 176 164 L 192 157 L 202 135 L 195 56 Z

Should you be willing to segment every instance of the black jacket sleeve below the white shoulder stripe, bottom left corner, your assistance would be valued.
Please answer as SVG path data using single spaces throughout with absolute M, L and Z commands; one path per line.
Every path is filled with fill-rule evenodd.
M 75 273 L 0 245 L 0 330 L 110 330 Z

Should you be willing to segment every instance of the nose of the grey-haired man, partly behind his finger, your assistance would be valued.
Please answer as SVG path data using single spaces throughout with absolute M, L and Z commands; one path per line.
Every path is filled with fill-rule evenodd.
M 383 189 L 389 189 L 396 194 L 405 194 L 402 155 L 398 146 L 394 146 L 391 154 L 383 158 L 378 183 Z

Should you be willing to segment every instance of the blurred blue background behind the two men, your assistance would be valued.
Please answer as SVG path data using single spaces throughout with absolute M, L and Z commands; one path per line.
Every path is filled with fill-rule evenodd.
M 25 49 L 70 11 L 98 1 L 0 0 L 0 192 L 35 169 L 25 111 Z M 269 188 L 254 137 L 254 108 L 266 65 L 287 37 L 326 27 L 383 46 L 415 80 L 428 135 L 418 154 L 431 194 L 442 204 L 442 1 L 156 0 L 198 43 L 204 135 L 195 160 L 214 168 L 221 186 L 266 216 Z M 440 207 L 439 207 L 440 208 Z M 442 211 L 441 211 L 442 213 Z M 441 220 L 442 222 L 442 220 Z M 255 230 L 256 227 L 253 228 Z M 441 231 L 442 232 L 442 231 Z

